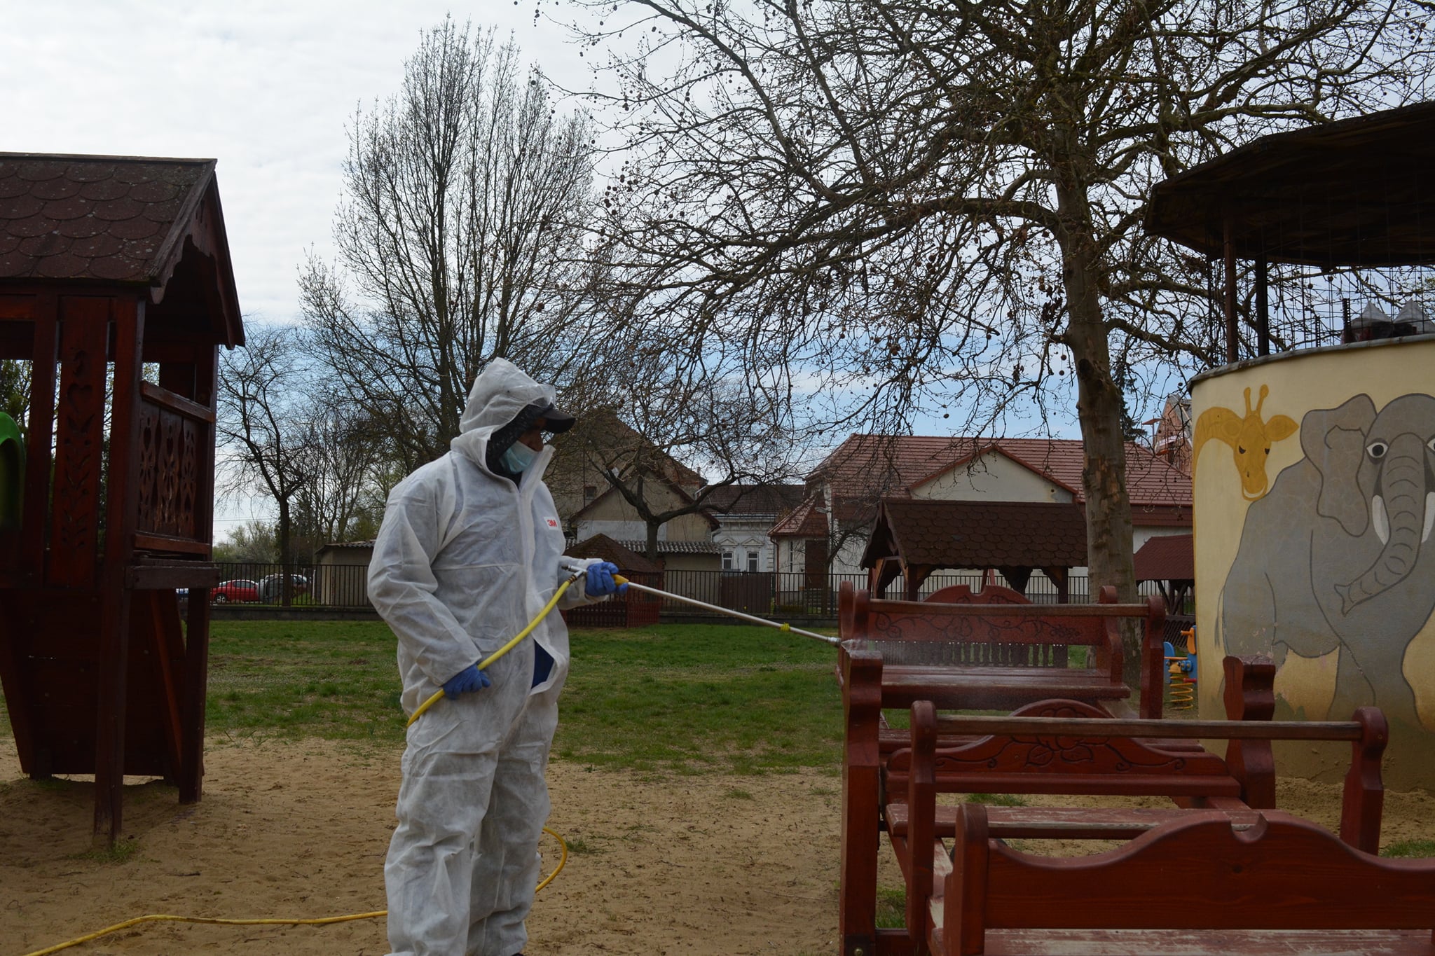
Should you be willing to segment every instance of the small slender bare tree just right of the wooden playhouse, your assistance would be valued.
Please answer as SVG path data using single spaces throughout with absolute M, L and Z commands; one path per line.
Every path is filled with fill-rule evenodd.
M 283 601 L 293 595 L 294 499 L 313 480 L 309 401 L 311 377 L 293 328 L 250 325 L 243 350 L 220 355 L 217 434 L 234 490 L 258 490 L 278 509 L 276 535 Z

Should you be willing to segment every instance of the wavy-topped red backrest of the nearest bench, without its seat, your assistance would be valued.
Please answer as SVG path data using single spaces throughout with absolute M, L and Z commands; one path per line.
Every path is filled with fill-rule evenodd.
M 951 863 L 949 956 L 983 952 L 987 929 L 1435 926 L 1435 860 L 1382 860 L 1279 810 L 1192 811 L 1109 853 L 1043 859 L 990 838 L 986 808 L 966 804 Z

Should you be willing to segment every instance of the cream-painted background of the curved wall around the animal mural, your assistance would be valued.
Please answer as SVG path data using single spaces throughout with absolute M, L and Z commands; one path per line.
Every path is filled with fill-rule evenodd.
M 1299 426 L 1307 411 L 1336 408 L 1362 393 L 1370 397 L 1376 413 L 1379 413 L 1386 403 L 1399 396 L 1435 394 L 1435 338 L 1422 337 L 1310 350 L 1228 367 L 1195 383 L 1192 416 L 1197 423 L 1200 423 L 1201 414 L 1210 408 L 1228 408 L 1237 416 L 1244 416 L 1246 388 L 1251 390 L 1250 400 L 1254 407 L 1260 398 L 1261 386 L 1267 386 L 1270 390 L 1260 408 L 1261 419 L 1267 423 L 1273 416 L 1287 416 Z M 1200 429 L 1197 429 L 1197 439 L 1200 439 Z M 1227 578 L 1241 543 L 1241 532 L 1251 502 L 1243 496 L 1236 453 L 1230 446 L 1211 440 L 1197 449 L 1197 453 L 1194 469 L 1195 593 L 1201 714 L 1203 717 L 1223 717 L 1220 661 L 1225 651 L 1224 638 L 1218 634 L 1217 626 L 1218 613 L 1223 589 L 1228 583 Z M 1266 464 L 1267 489 L 1274 484 L 1283 469 L 1299 463 L 1303 457 L 1299 430 L 1286 439 L 1273 441 Z M 1292 520 L 1300 522 L 1302 517 L 1293 515 Z M 1319 658 L 1287 655 L 1276 678 L 1279 701 L 1294 714 L 1306 718 L 1326 718 L 1336 692 L 1339 654 L 1340 651 L 1336 649 Z M 1409 681 L 1415 691 L 1419 721 L 1426 728 L 1435 728 L 1435 616 L 1409 644 L 1402 671 L 1402 677 Z M 1378 681 L 1376 677 L 1376 681 L 1372 682 L 1379 687 Z M 1347 717 L 1349 714 L 1329 715 L 1330 720 L 1346 720 Z M 1418 730 L 1412 732 L 1421 735 Z M 1424 734 L 1422 737 L 1429 738 L 1421 742 L 1431 751 L 1431 755 L 1435 755 L 1435 735 Z M 1405 744 L 1409 742 L 1405 741 Z M 1292 752 L 1287 751 L 1287 755 Z M 1333 757 L 1322 758 L 1316 763 L 1323 765 L 1312 765 L 1310 775 L 1322 775 L 1322 773 L 1329 775 L 1335 773 L 1333 767 L 1339 767 L 1346 758 L 1347 748 Z M 1406 761 L 1408 765 L 1392 767 L 1388 761 L 1388 773 L 1393 774 L 1392 783 L 1435 784 L 1435 761 L 1425 761 L 1424 767 L 1418 767 L 1418 763 Z M 1283 773 L 1287 770 L 1290 770 L 1289 761 L 1287 767 L 1283 767 Z

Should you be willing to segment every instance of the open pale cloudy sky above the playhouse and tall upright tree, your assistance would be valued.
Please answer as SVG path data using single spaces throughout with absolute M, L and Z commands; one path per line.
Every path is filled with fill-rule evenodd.
M 446 13 L 587 86 L 534 0 L 0 0 L 0 150 L 218 159 L 240 305 L 291 321 L 304 251 L 331 248 L 354 107 L 397 90 Z

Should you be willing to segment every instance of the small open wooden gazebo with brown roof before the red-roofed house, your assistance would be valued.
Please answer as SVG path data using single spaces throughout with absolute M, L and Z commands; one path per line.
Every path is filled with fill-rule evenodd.
M 1000 570 L 1022 593 L 1040 569 L 1066 603 L 1068 572 L 1085 563 L 1082 507 L 1053 502 L 883 499 L 862 552 L 872 593 L 901 578 L 907 601 L 917 601 L 933 572 L 971 568 Z

